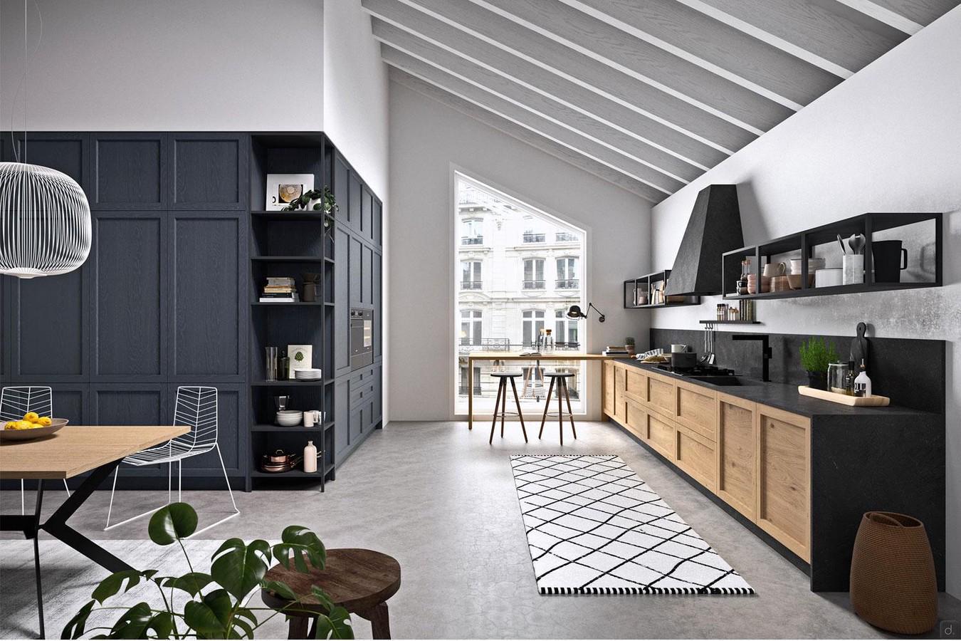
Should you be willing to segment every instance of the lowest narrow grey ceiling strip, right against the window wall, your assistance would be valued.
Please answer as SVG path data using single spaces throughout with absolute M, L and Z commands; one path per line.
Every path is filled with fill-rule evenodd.
M 407 73 L 403 69 L 395 66 L 390 66 L 389 78 L 392 83 L 396 83 L 401 86 L 406 86 L 422 95 L 428 96 L 429 98 L 436 100 L 437 102 L 451 107 L 456 111 L 460 111 L 471 118 L 503 132 L 507 136 L 512 136 L 518 140 L 529 144 L 535 149 L 539 149 L 545 154 L 549 154 L 556 159 L 563 160 L 572 166 L 577 167 L 581 171 L 587 172 L 593 176 L 629 191 L 636 196 L 643 198 L 651 203 L 659 203 L 664 198 L 667 197 L 666 194 L 660 192 L 659 190 L 653 189 L 650 185 L 644 185 L 643 183 L 638 183 L 632 178 L 628 178 L 627 175 L 611 169 L 609 166 L 602 164 L 596 160 L 591 160 L 576 152 L 568 147 L 558 144 L 554 140 L 548 137 L 541 136 L 531 132 L 530 129 L 521 127 L 506 118 L 503 118 L 493 111 L 489 111 L 478 105 L 471 103 L 470 101 L 464 100 L 453 93 L 442 89 L 438 86 L 432 85 L 431 83 L 418 78 L 412 74 Z

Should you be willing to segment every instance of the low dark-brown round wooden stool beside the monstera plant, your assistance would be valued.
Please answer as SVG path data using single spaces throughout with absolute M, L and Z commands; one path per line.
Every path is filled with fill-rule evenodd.
M 324 570 L 312 568 L 305 574 L 278 564 L 267 571 L 264 579 L 283 581 L 299 597 L 291 602 L 262 589 L 260 598 L 268 607 L 280 610 L 296 603 L 301 610 L 322 613 L 325 610 L 310 594 L 310 586 L 316 585 L 330 595 L 333 604 L 370 621 L 375 639 L 390 638 L 386 602 L 401 587 L 401 565 L 393 556 L 357 548 L 328 550 Z M 289 618 L 288 639 L 313 638 L 316 616 L 290 614 Z

